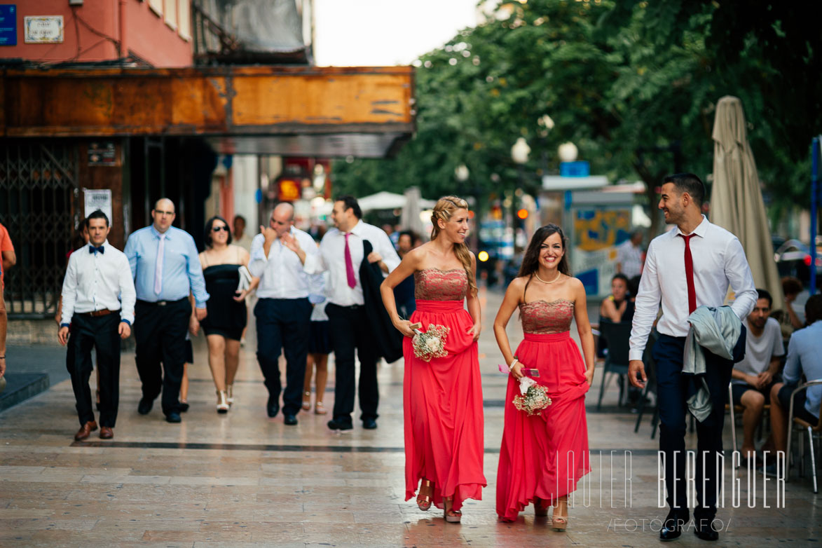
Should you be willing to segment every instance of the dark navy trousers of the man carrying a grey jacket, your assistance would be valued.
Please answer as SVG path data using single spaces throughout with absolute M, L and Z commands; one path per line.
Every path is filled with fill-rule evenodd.
M 691 394 L 694 394 L 696 382 L 698 382 L 691 375 L 682 375 L 685 340 L 685 337 L 660 334 L 653 345 L 652 353 L 657 364 L 659 449 L 665 454 L 666 500 L 672 510 L 682 513 L 688 511 L 685 453 L 686 401 Z M 741 344 L 744 351 L 744 334 L 741 337 Z M 717 473 L 717 456 L 723 451 L 722 431 L 725 423 L 727 385 L 731 381 L 733 369 L 732 360 L 726 360 L 708 351 L 704 351 L 704 356 L 707 362 L 704 379 L 708 385 L 713 410 L 704 421 L 696 422 L 697 500 L 694 518 L 697 520 L 711 520 L 717 511 L 717 482 L 722 481 L 722 471 Z M 674 496 L 675 493 L 676 496 Z

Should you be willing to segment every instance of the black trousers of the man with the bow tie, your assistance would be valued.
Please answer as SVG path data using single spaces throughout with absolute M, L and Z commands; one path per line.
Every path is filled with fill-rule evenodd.
M 120 402 L 120 315 L 117 313 L 91 317 L 72 316 L 69 329 L 66 369 L 72 375 L 72 389 L 80 426 L 95 420 L 91 407 L 89 377 L 94 366 L 91 349 L 97 349 L 97 367 L 100 373 L 100 426 L 113 428 L 117 422 Z

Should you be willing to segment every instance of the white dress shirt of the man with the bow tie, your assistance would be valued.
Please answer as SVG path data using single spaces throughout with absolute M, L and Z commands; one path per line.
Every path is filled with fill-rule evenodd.
M 101 310 L 118 310 L 121 320 L 134 323 L 136 291 L 128 258 L 108 240 L 102 247 L 104 252 L 99 253 L 90 252 L 90 245 L 82 246 L 68 258 L 60 325 L 70 324 L 75 313 Z

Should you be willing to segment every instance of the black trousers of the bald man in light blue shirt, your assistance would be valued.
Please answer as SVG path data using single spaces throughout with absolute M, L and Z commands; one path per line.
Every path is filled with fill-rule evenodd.
M 180 383 L 186 362 L 186 331 L 192 315 L 188 298 L 167 302 L 137 301 L 134 306 L 134 359 L 143 384 L 143 398 L 163 392 L 163 412 L 180 411 Z M 163 370 L 160 370 L 160 362 Z

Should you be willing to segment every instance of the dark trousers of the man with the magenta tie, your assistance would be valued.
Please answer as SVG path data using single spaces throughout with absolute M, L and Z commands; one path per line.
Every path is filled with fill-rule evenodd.
M 376 348 L 363 306 L 326 306 L 335 359 L 334 418 L 351 421 L 354 410 L 354 349 L 360 362 L 360 418 L 376 419 L 380 389 L 376 384 Z

